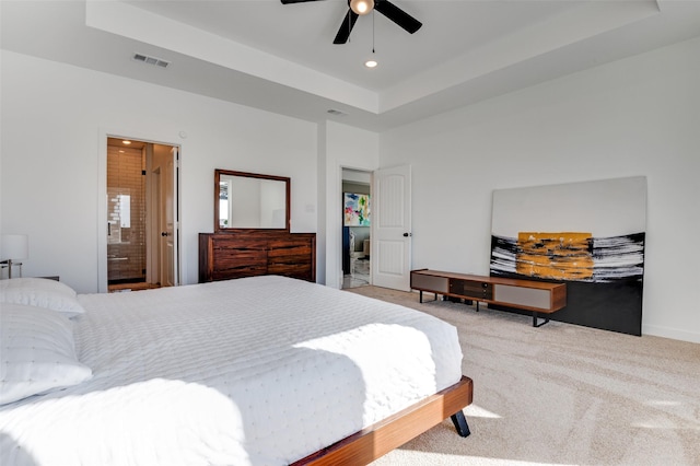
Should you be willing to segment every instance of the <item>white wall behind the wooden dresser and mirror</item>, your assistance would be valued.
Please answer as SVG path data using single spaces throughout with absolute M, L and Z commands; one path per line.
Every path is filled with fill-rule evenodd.
M 4 50 L 0 59 L 0 218 L 2 233 L 30 235 L 24 276 L 97 291 L 105 133 L 182 145 L 185 283 L 197 281 L 197 234 L 213 230 L 214 168 L 291 177 L 292 231 L 316 231 L 315 124 Z

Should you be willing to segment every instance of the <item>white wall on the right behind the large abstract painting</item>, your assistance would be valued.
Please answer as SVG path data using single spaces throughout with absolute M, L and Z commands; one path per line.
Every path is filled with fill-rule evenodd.
M 643 333 L 700 342 L 699 83 L 696 38 L 383 133 L 382 166 L 412 165 L 412 267 L 488 273 L 493 189 L 643 175 Z

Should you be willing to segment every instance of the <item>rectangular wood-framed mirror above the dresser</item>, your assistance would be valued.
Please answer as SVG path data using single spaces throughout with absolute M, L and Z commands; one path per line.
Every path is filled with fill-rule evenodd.
M 214 232 L 289 231 L 290 178 L 214 170 Z

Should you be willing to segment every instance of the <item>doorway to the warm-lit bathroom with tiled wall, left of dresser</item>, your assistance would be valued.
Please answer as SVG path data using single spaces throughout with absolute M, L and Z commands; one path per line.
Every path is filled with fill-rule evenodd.
M 107 138 L 107 291 L 177 283 L 178 148 Z

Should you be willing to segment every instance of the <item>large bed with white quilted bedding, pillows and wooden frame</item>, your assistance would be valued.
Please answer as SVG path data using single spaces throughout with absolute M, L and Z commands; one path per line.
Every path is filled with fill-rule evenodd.
M 0 303 L 0 464 L 366 464 L 448 417 L 468 435 L 456 329 L 407 307 L 278 276 L 13 279 Z

